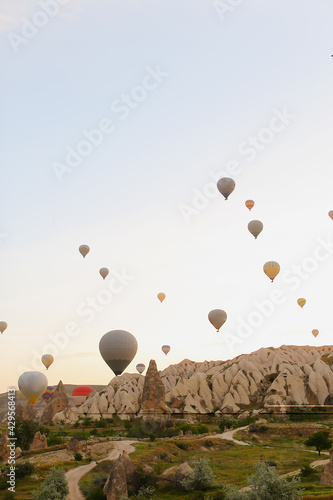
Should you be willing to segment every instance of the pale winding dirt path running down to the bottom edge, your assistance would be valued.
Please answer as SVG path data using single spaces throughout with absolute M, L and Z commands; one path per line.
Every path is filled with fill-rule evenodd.
M 116 460 L 123 451 L 127 453 L 132 453 L 135 451 L 134 446 L 131 446 L 135 441 L 114 441 L 113 448 L 106 458 L 103 460 Z M 102 462 L 103 460 L 100 460 Z M 66 472 L 66 479 L 68 482 L 69 494 L 67 495 L 67 500 L 84 500 L 84 497 L 79 488 L 79 481 L 82 476 L 87 474 L 91 469 L 93 469 L 98 462 L 90 462 L 88 465 L 82 465 L 81 467 L 76 467 L 76 469 L 71 469 Z

